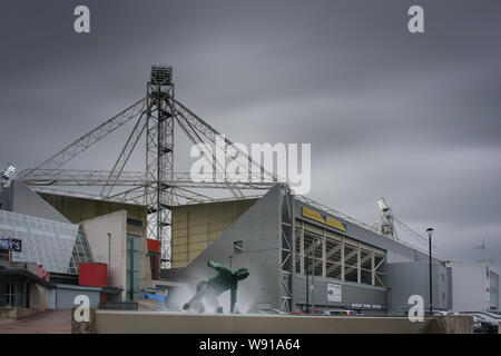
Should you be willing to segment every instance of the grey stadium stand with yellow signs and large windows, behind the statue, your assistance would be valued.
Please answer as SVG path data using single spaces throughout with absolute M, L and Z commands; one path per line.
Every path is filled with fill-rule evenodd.
M 185 230 L 193 224 L 199 239 L 204 238 L 200 231 L 207 230 L 200 224 L 218 224 L 217 215 L 202 219 L 198 214 L 204 210 L 210 210 L 210 204 L 194 207 L 188 215 L 184 211 Z M 176 220 L 176 210 L 173 216 Z M 179 236 L 184 233 L 173 234 L 174 254 Z M 163 277 L 188 281 L 194 288 L 214 275 L 207 268 L 209 259 L 250 270 L 238 289 L 243 309 L 392 313 L 409 309 L 412 295 L 422 296 L 429 306 L 425 254 L 310 206 L 278 185 L 253 201 L 206 249 L 188 258 L 187 267 L 163 270 Z M 433 258 L 432 273 L 433 308 L 448 310 L 452 307 L 451 269 Z

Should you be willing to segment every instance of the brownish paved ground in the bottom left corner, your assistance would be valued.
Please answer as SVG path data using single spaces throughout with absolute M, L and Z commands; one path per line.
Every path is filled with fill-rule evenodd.
M 0 334 L 71 334 L 71 310 L 47 310 L 0 323 Z

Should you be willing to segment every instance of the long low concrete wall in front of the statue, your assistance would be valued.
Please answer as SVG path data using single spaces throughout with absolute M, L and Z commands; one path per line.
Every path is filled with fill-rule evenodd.
M 194 315 L 96 312 L 95 333 L 147 334 L 426 334 L 473 332 L 468 315 L 438 316 L 422 323 L 397 317 Z

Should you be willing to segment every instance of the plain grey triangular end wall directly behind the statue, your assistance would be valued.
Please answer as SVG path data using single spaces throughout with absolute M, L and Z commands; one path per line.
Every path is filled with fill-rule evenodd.
M 163 270 L 163 278 L 187 283 L 190 293 L 194 293 L 198 281 L 215 275 L 215 270 L 207 267 L 207 260 L 229 266 L 232 256 L 232 268 L 246 267 L 250 271 L 249 277 L 239 284 L 237 307 L 246 310 L 257 304 L 266 304 L 278 308 L 279 195 L 279 187 L 271 189 L 224 230 L 187 268 Z M 242 240 L 243 253 L 234 251 L 235 240 Z M 185 300 L 189 297 L 190 295 L 184 296 Z M 223 294 L 219 301 L 227 312 L 229 293 Z

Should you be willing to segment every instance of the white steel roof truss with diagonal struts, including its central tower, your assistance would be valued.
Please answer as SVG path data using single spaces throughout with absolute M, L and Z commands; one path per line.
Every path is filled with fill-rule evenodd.
M 63 168 L 127 122 L 135 122 L 134 129 L 110 170 Z M 42 164 L 26 169 L 19 178 L 41 192 L 144 205 L 147 211 L 147 236 L 160 240 L 163 267 L 168 267 L 173 206 L 227 199 L 212 198 L 197 189 L 225 189 L 234 199 L 242 199 L 250 198 L 244 194 L 245 190 L 267 190 L 278 181 L 276 176 L 233 146 L 228 139 L 224 140 L 227 146 L 225 155 L 232 159 L 240 158 L 235 161 L 240 172 L 248 174 L 248 181 L 237 181 L 226 174 L 224 167 L 215 167 L 218 168 L 216 171 L 224 174 L 209 182 L 194 181 L 186 172 L 174 172 L 175 125 L 193 144 L 220 145 L 217 140 L 220 134 L 174 98 L 173 68 L 154 66 L 147 82 L 146 98 L 106 120 Z M 127 171 L 127 162 L 143 137 L 146 140 L 145 171 Z M 220 165 L 215 157 L 205 158 L 214 165 Z M 99 194 L 89 191 L 96 187 L 99 187 Z

